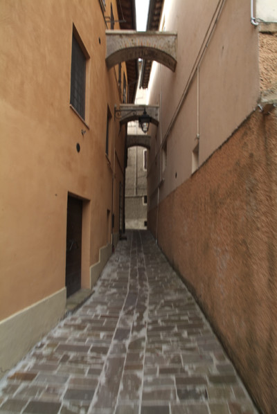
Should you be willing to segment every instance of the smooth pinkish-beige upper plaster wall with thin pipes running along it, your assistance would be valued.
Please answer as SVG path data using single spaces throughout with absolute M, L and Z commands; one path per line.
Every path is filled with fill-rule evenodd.
M 149 86 L 161 122 L 152 131 L 148 191 L 153 198 L 164 179 L 160 199 L 193 172 L 197 135 L 201 165 L 256 107 L 260 92 L 258 30 L 247 1 L 166 0 L 162 26 L 178 37 L 175 73 L 155 64 Z

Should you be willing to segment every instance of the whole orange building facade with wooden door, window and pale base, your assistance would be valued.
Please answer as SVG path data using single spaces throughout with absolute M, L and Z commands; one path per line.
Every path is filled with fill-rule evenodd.
M 105 30 L 136 28 L 134 1 L 120 3 L 0 4 L 1 375 L 66 296 L 91 289 L 123 231 L 127 131 L 114 107 L 133 101 L 137 66 L 105 62 Z

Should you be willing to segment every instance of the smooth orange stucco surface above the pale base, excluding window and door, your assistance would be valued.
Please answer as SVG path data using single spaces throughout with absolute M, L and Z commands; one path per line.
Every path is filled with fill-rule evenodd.
M 3 0 L 0 19 L 1 321 L 64 287 L 69 193 L 84 200 L 82 287 L 90 287 L 107 210 L 118 215 L 112 196 L 124 181 L 125 128 L 111 118 L 108 161 L 107 105 L 113 115 L 122 96 L 105 64 L 98 0 Z M 89 54 L 84 120 L 69 105 L 73 25 Z

